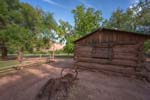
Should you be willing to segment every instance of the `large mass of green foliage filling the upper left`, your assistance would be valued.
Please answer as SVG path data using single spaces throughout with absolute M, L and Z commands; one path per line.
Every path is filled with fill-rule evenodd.
M 0 12 L 0 44 L 11 52 L 49 46 L 57 27 L 52 13 L 19 0 L 0 0 Z

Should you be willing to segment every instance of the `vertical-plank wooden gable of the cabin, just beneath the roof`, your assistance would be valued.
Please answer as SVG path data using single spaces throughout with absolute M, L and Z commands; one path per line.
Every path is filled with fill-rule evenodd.
M 89 37 L 86 37 L 76 44 L 79 45 L 95 45 L 95 44 L 105 44 L 113 42 L 116 44 L 133 44 L 138 42 L 144 42 L 145 36 L 130 34 L 130 33 L 117 33 L 113 31 L 98 31 Z

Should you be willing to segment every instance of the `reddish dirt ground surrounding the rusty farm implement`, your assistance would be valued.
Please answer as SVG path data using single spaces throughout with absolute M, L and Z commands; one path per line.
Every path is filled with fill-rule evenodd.
M 52 77 L 60 77 L 62 67 L 72 67 L 72 59 L 24 68 L 0 78 L 0 100 L 36 100 L 40 88 Z M 150 100 L 150 83 L 99 72 L 80 71 L 70 100 Z

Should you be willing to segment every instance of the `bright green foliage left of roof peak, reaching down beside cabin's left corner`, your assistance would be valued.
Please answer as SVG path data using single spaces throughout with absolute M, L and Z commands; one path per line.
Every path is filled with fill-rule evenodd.
M 85 8 L 84 5 L 77 6 L 72 13 L 75 21 L 74 29 L 68 22 L 60 20 L 61 33 L 66 40 L 64 52 L 68 54 L 73 53 L 75 40 L 99 28 L 102 21 L 101 11 Z

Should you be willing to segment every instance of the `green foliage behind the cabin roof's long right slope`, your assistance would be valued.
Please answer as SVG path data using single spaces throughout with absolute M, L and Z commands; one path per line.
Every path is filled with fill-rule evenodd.
M 150 32 L 150 2 L 142 0 L 138 4 L 122 10 L 118 8 L 109 20 L 103 22 L 103 27 L 117 28 L 133 32 Z

